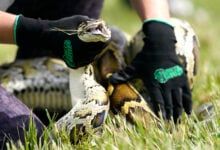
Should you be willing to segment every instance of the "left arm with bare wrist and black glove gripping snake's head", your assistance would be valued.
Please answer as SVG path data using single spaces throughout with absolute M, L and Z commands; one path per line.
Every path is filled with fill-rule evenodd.
M 78 68 L 91 63 L 108 40 L 105 37 L 105 41 L 83 41 L 78 34 L 62 32 L 77 30 L 81 23 L 87 21 L 91 22 L 94 19 L 74 15 L 51 21 L 15 16 L 0 11 L 0 43 L 16 44 L 27 49 L 34 47 L 39 50 L 50 50 L 55 56 L 63 58 L 70 68 Z M 108 36 L 110 38 L 110 32 Z

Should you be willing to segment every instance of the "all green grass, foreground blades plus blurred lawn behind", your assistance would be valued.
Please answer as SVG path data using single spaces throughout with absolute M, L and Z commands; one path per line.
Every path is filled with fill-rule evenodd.
M 133 35 L 140 27 L 141 22 L 134 10 L 125 5 L 125 0 L 106 0 L 102 18 L 109 24 L 119 26 L 125 32 Z M 102 136 L 90 135 L 88 140 L 78 145 L 72 145 L 65 135 L 57 136 L 56 142 L 51 144 L 48 138 L 43 140 L 42 145 L 37 144 L 36 137 L 31 129 L 27 136 L 35 140 L 32 142 L 33 149 L 219 149 L 220 148 L 220 20 L 218 19 L 220 1 L 192 0 L 195 4 L 195 13 L 192 16 L 184 17 L 194 27 L 201 44 L 200 65 L 196 84 L 193 89 L 193 110 L 196 110 L 205 102 L 215 104 L 215 116 L 206 122 L 199 122 L 197 117 L 192 115 L 188 118 L 183 116 L 182 124 L 170 134 L 165 125 L 159 130 L 155 125 L 149 129 L 141 126 L 127 126 L 123 119 L 116 119 L 120 128 L 115 125 L 115 120 L 108 117 L 103 127 Z M 202 16 L 202 9 L 208 13 L 208 18 Z M 10 61 L 14 57 L 13 48 L 1 47 L 0 63 Z M 49 130 L 50 131 L 50 130 Z M 30 134 L 30 135 L 28 135 Z M 32 136 L 31 136 L 32 135 Z M 45 133 L 48 137 L 48 132 Z M 61 140 L 62 139 L 62 140 Z M 29 143 L 31 144 L 31 143 Z M 28 149 L 21 146 L 19 149 Z M 10 149 L 17 149 L 13 146 Z

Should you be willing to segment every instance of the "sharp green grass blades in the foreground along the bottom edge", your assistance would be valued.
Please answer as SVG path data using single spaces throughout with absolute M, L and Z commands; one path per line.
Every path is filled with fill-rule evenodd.
M 216 115 L 219 115 L 216 111 Z M 191 118 L 183 116 L 182 124 L 173 128 L 172 134 L 165 124 L 161 128 L 152 124 L 151 128 L 143 128 L 142 126 L 127 125 L 125 120 L 120 117 L 114 119 L 108 117 L 103 126 L 103 134 L 89 134 L 79 144 L 73 145 L 69 141 L 66 133 L 57 134 L 50 140 L 49 135 L 52 131 L 45 130 L 44 140 L 38 144 L 36 139 L 36 130 L 34 126 L 30 127 L 25 133 L 27 141 L 24 145 L 14 144 L 9 149 L 103 149 L 103 150 L 155 150 L 155 149 L 219 149 L 220 148 L 220 132 L 219 117 L 215 116 L 207 122 L 198 122 L 196 116 Z M 116 124 L 120 126 L 117 127 Z

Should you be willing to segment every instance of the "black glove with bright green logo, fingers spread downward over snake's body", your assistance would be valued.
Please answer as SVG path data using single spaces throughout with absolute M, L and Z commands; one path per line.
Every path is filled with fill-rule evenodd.
M 187 76 L 175 52 L 173 27 L 158 20 L 143 25 L 144 46 L 134 60 L 123 70 L 114 73 L 110 82 L 119 84 L 133 78 L 141 78 L 147 87 L 153 109 L 162 112 L 165 120 L 173 117 L 177 122 L 182 108 L 187 114 L 192 110 L 191 91 Z

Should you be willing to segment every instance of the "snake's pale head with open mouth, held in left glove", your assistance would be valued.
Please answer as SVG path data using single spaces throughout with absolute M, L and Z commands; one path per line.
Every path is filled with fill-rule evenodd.
M 82 22 L 77 32 L 78 37 L 84 42 L 106 42 L 111 38 L 111 30 L 103 20 Z

